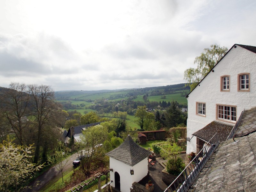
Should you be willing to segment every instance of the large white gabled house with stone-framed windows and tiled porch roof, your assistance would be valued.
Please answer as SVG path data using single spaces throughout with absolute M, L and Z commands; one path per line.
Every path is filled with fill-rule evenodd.
M 235 44 L 187 95 L 187 153 L 213 134 L 225 140 L 242 111 L 256 106 L 256 47 Z

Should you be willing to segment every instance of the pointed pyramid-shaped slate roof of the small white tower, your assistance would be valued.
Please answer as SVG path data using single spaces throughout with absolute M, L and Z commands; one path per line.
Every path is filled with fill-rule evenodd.
M 143 147 L 140 147 L 132 140 L 132 137 L 128 135 L 119 147 L 108 152 L 106 155 L 127 165 L 134 166 L 151 155 L 151 153 L 152 152 Z

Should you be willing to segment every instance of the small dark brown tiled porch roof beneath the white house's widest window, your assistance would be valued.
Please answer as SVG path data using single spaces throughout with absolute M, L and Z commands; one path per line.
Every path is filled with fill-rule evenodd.
M 192 135 L 202 139 L 204 141 L 209 141 L 212 136 L 217 132 L 215 138 L 217 140 L 225 141 L 230 134 L 233 125 L 220 123 L 218 121 L 212 121 L 210 124 L 206 125 L 204 128 L 194 132 Z

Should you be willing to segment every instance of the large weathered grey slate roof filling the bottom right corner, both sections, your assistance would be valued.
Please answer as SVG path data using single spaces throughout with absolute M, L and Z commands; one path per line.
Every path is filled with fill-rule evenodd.
M 255 118 L 256 108 L 244 112 L 235 132 L 237 142 L 220 143 L 189 191 L 256 191 Z

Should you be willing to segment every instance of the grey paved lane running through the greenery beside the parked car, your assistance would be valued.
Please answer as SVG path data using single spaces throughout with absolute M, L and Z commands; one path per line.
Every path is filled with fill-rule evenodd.
M 76 159 L 77 153 L 70 156 L 68 163 L 64 167 L 64 171 L 72 170 L 73 168 L 73 161 Z M 64 160 L 65 161 L 65 160 Z M 33 182 L 31 182 L 29 185 L 32 186 L 31 189 L 26 189 L 24 192 L 35 192 L 40 191 L 47 183 L 54 179 L 55 177 L 61 177 L 61 172 L 57 170 L 55 166 L 48 169 L 48 171 L 44 172 L 42 175 L 37 177 Z M 39 184 L 36 186 L 36 183 L 39 182 Z

